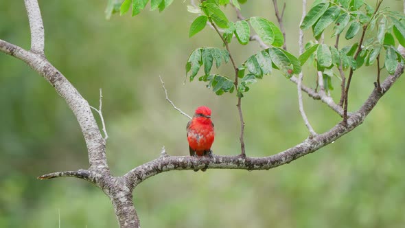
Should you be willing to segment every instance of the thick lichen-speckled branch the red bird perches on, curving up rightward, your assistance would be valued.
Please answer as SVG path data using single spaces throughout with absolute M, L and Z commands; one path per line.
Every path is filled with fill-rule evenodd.
M 384 88 L 384 93 L 386 93 L 397 78 L 401 76 L 403 70 L 403 66 L 398 66 L 395 74 L 388 76 L 386 80 L 384 80 L 381 85 Z M 268 170 L 270 168 L 275 168 L 319 150 L 320 148 L 331 144 L 336 139 L 349 133 L 351 130 L 356 128 L 356 126 L 362 124 L 365 117 L 367 117 L 384 93 L 380 93 L 378 89 L 374 89 L 360 109 L 356 111 L 356 113 L 350 115 L 350 117 L 347 119 L 347 125 L 341 123 L 336 124 L 336 126 L 326 133 L 316 135 L 312 139 L 305 139 L 305 141 L 303 141 L 301 144 L 298 144 L 297 146 L 294 146 L 288 150 L 284 150 L 283 152 L 279 152 L 276 155 L 257 158 L 241 157 L 240 155 L 215 155 L 213 158 L 189 156 L 159 157 L 158 159 L 154 159 L 153 161 L 130 170 L 124 175 L 124 178 L 130 181 L 132 187 L 135 187 L 151 176 L 171 170 L 194 170 L 196 168 Z

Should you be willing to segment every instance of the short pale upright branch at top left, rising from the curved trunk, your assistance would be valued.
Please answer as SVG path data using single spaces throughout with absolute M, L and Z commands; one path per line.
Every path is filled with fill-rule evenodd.
M 31 51 L 43 55 L 45 49 L 45 33 L 38 1 L 25 0 L 24 3 L 25 9 L 27 10 L 28 21 L 30 21 Z

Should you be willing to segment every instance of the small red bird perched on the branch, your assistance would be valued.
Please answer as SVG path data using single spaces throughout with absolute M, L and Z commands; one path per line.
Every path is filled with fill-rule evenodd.
M 211 109 L 207 106 L 200 106 L 196 109 L 193 119 L 187 124 L 190 156 L 212 155 L 213 138 Z

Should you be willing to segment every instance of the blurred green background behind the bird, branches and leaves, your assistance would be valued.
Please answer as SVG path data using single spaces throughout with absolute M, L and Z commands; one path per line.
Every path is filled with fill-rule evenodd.
M 106 1 L 40 1 L 47 58 L 91 105 L 98 106 L 103 89 L 108 163 L 115 175 L 158 157 L 162 146 L 170 155 L 188 154 L 188 119 L 165 101 L 159 75 L 183 111 L 211 107 L 214 153 L 240 152 L 235 95 L 216 96 L 203 82 L 183 85 L 189 53 L 200 46 L 221 46 L 209 29 L 188 38 L 195 14 L 187 12 L 187 4 L 175 1 L 162 13 L 144 10 L 139 16 L 106 20 Z M 402 10 L 402 1 L 383 5 Z M 0 1 L 0 9 L 0 38 L 29 48 L 23 1 Z M 242 12 L 276 21 L 269 0 L 246 3 Z M 231 8 L 227 14 L 235 19 Z M 288 1 L 284 23 L 294 54 L 300 17 L 299 1 Z M 332 44 L 329 34 L 326 40 Z M 233 41 L 231 50 L 240 63 L 259 47 Z M 356 71 L 351 111 L 373 89 L 374 69 Z M 305 84 L 314 87 L 312 67 L 303 70 Z M 218 72 L 232 75 L 230 65 Z M 340 82 L 332 80 L 337 100 Z M 400 79 L 354 132 L 288 166 L 167 172 L 148 179 L 134 192 L 141 226 L 403 227 L 403 86 Z M 304 103 L 318 133 L 340 121 L 321 102 L 304 95 Z M 65 101 L 23 62 L 5 54 L 0 54 L 0 107 L 0 227 L 54 228 L 58 216 L 64 228 L 117 227 L 113 207 L 97 187 L 77 179 L 36 180 L 47 172 L 86 168 L 86 146 Z M 248 156 L 273 155 L 308 137 L 296 86 L 277 72 L 254 84 L 242 107 Z

